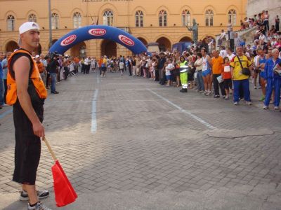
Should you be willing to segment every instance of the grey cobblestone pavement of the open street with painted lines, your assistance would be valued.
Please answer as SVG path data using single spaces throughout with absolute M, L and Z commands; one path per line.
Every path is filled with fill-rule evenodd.
M 80 74 L 57 89 L 46 137 L 79 196 L 61 209 L 281 209 L 281 113 L 259 109 L 261 90 L 253 106 L 233 106 L 118 73 Z M 11 107 L 0 123 L 0 207 L 27 209 L 11 181 Z M 37 186 L 56 209 L 52 164 L 42 144 Z

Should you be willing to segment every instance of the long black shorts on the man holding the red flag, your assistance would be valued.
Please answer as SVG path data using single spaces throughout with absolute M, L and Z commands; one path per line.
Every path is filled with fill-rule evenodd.
M 43 105 L 33 106 L 35 113 L 43 122 Z M 33 133 L 32 123 L 17 101 L 13 105 L 13 120 L 15 125 L 15 170 L 13 181 L 34 185 L 41 155 L 40 138 Z

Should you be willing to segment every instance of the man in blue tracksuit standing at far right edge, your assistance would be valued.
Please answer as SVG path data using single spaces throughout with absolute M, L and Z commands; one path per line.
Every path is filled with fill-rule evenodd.
M 270 57 L 266 61 L 266 65 L 264 67 L 264 76 L 266 79 L 266 99 L 264 100 L 263 109 L 268 109 L 268 105 L 270 102 L 271 94 L 273 92 L 273 88 L 275 90 L 274 97 L 274 109 L 279 109 L 280 104 L 280 87 L 281 87 L 281 76 L 274 71 L 277 64 L 280 64 L 281 59 L 278 58 L 279 50 L 273 49 L 271 52 L 273 57 Z

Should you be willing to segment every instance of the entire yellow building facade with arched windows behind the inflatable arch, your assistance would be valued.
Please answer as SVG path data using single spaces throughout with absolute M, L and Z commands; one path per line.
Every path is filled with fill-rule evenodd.
M 73 29 L 86 25 L 122 28 L 143 43 L 159 43 L 170 50 L 179 41 L 191 41 L 185 27 L 198 24 L 199 39 L 215 38 L 228 21 L 234 29 L 246 17 L 247 0 L 51 0 L 52 43 Z M 46 54 L 49 41 L 47 0 L 0 0 L 0 51 L 17 48 L 18 27 L 27 20 L 41 27 L 39 51 Z M 130 52 L 110 40 L 89 40 L 67 51 L 74 56 L 127 55 Z

